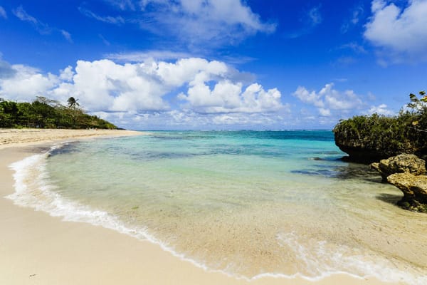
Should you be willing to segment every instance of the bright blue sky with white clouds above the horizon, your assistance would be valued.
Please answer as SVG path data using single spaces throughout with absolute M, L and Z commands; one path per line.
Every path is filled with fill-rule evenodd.
M 427 0 L 0 0 L 0 98 L 122 128 L 330 129 L 427 86 Z

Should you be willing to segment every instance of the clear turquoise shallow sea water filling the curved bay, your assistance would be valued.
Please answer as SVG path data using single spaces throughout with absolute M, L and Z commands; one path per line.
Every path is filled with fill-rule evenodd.
M 329 131 L 172 131 L 68 142 L 15 162 L 16 204 L 159 244 L 238 278 L 427 284 L 426 214 Z

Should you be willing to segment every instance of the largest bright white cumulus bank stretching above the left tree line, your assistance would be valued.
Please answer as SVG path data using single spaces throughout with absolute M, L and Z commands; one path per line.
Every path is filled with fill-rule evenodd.
M 201 124 L 203 120 L 205 125 L 215 125 L 221 114 L 245 122 L 251 118 L 254 123 L 268 123 L 278 110 L 289 111 L 289 106 L 280 102 L 276 88 L 265 90 L 258 83 L 238 81 L 238 71 L 204 58 L 174 63 L 152 59 L 125 64 L 108 59 L 78 61 L 75 68 L 68 66 L 58 75 L 5 62 L 3 66 L 8 76 L 0 77 L 1 98 L 33 100 L 43 95 L 65 103 L 73 96 L 90 112 L 120 123 L 162 118 L 176 125 L 190 121 Z M 183 104 L 172 108 L 176 96 Z M 253 115 L 256 113 L 259 115 Z

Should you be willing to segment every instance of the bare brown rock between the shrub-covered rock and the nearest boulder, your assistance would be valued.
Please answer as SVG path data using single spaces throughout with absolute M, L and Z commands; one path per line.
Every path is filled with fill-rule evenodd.
M 389 157 L 380 162 L 374 162 L 371 167 L 377 170 L 384 182 L 394 173 L 410 173 L 412 175 L 426 174 L 426 162 L 416 155 L 401 154 Z

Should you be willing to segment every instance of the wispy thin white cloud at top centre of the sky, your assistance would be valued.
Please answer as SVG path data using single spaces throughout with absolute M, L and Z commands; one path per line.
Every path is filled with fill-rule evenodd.
M 117 7 L 117 1 L 112 2 Z M 258 32 L 275 31 L 275 24 L 262 21 L 241 0 L 142 0 L 135 11 L 122 5 L 126 6 L 130 10 L 127 16 L 132 15 L 129 19 L 142 29 L 162 36 L 166 33 L 191 47 L 233 44 Z

